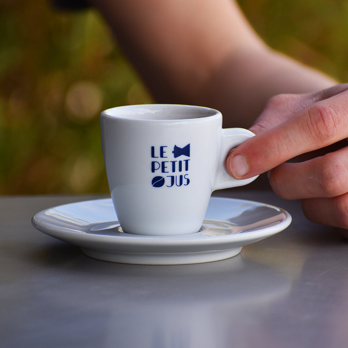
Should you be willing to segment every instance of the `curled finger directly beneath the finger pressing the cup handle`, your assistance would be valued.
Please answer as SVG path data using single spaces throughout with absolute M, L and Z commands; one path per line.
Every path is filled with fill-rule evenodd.
M 285 199 L 336 197 L 348 192 L 348 147 L 302 163 L 283 163 L 269 174 Z

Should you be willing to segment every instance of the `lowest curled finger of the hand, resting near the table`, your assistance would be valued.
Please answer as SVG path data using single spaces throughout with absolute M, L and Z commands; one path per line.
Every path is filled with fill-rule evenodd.
M 302 210 L 310 221 L 348 229 L 348 193 L 333 198 L 303 199 Z

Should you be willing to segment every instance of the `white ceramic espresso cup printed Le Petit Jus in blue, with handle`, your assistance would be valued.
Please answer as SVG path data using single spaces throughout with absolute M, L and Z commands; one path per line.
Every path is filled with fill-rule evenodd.
M 111 198 L 122 230 L 138 235 L 198 232 L 211 193 L 248 184 L 226 170 L 232 148 L 254 134 L 222 129 L 219 111 L 200 106 L 120 106 L 100 116 Z

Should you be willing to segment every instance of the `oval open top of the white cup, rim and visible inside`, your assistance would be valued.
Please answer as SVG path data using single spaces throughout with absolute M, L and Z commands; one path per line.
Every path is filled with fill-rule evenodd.
M 170 113 L 168 112 L 170 109 L 177 109 L 178 111 L 181 110 L 181 112 L 184 112 L 185 110 L 191 110 L 191 114 L 197 115 L 197 112 L 201 111 L 201 116 L 199 117 L 187 117 L 187 118 L 169 118 Z M 181 109 L 180 109 L 181 108 Z M 125 111 L 127 110 L 128 114 L 125 115 Z M 133 111 L 133 113 L 132 113 Z M 141 118 L 139 117 L 140 112 L 143 111 L 143 113 L 153 113 L 154 118 Z M 155 118 L 156 112 L 163 111 L 168 112 L 168 118 Z M 173 114 L 172 114 L 173 115 Z M 123 105 L 123 106 L 116 106 L 114 108 L 109 108 L 104 110 L 101 113 L 101 117 L 108 117 L 111 119 L 119 119 L 119 120 L 126 120 L 130 122 L 155 122 L 155 123 L 161 123 L 161 122 L 169 122 L 169 123 L 175 123 L 175 122 L 189 122 L 189 123 L 195 123 L 195 122 L 207 122 L 212 121 L 213 119 L 218 119 L 222 117 L 222 114 L 220 111 L 208 108 L 206 106 L 197 106 L 197 105 L 185 105 L 185 104 L 135 104 L 135 105 Z

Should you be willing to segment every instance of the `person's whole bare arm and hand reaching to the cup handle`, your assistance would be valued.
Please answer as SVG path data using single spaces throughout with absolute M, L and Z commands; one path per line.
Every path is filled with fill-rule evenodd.
M 91 2 L 156 102 L 215 108 L 256 134 L 230 152 L 231 176 L 270 171 L 308 219 L 348 228 L 347 85 L 270 49 L 232 0 Z

